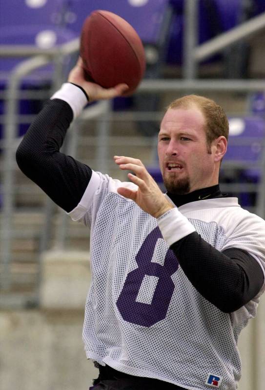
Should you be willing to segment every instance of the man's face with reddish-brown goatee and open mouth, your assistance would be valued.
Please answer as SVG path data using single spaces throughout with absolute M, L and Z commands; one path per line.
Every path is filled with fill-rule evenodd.
M 165 188 L 172 194 L 183 195 L 218 183 L 215 155 L 207 151 L 204 123 L 204 115 L 196 107 L 169 109 L 163 117 L 158 135 L 159 165 Z

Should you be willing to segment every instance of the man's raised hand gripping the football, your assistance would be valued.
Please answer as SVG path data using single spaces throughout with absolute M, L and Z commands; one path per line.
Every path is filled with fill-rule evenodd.
M 68 81 L 80 85 L 87 93 L 89 102 L 116 98 L 128 89 L 127 84 L 118 84 L 114 88 L 106 89 L 94 82 L 86 81 L 81 57 L 79 57 L 77 64 L 69 73 Z

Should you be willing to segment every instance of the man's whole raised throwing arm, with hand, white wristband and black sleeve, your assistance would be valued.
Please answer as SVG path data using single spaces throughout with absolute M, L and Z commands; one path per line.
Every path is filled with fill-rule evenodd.
M 121 95 L 126 86 L 104 89 L 85 80 L 82 60 L 35 118 L 17 150 L 21 171 L 62 209 L 72 211 L 80 202 L 92 175 L 91 169 L 60 152 L 71 121 L 89 101 Z M 73 85 L 76 84 L 76 85 Z

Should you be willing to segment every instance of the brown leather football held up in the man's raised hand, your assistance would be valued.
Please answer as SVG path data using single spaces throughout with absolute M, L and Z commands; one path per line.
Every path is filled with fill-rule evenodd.
M 104 88 L 126 83 L 131 95 L 145 71 L 143 43 L 134 28 L 120 16 L 93 11 L 84 21 L 80 55 L 88 79 Z

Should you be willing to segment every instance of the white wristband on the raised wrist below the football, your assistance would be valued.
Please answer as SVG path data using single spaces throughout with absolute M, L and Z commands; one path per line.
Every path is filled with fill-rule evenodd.
M 61 89 L 55 92 L 51 99 L 61 99 L 66 101 L 73 111 L 74 119 L 81 114 L 82 109 L 87 104 L 87 98 L 82 92 L 82 89 L 69 82 L 63 83 Z

